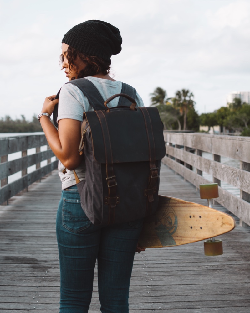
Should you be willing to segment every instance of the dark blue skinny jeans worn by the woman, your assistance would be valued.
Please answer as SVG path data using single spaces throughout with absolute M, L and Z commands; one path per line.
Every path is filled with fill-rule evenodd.
M 130 277 L 143 220 L 108 227 L 93 225 L 76 186 L 62 191 L 56 231 L 60 258 L 60 313 L 88 312 L 98 264 L 103 313 L 128 313 Z

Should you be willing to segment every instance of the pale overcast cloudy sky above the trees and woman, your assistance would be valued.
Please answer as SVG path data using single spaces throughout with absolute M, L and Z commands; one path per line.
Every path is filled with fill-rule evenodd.
M 67 82 L 61 40 L 88 19 L 120 29 L 114 78 L 146 106 L 158 86 L 168 97 L 192 91 L 199 114 L 225 106 L 232 91 L 250 91 L 250 0 L 0 0 L 0 118 L 31 119 Z

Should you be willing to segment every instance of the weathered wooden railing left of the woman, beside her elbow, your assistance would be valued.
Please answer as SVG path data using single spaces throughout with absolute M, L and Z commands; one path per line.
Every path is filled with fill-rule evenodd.
M 45 147 L 46 150 L 41 151 L 41 147 L 44 148 L 44 146 L 48 147 L 44 135 L 0 138 L 0 204 L 7 204 L 9 198 L 27 189 L 34 181 L 57 168 L 58 161 L 51 162 L 51 158 L 54 157 L 51 149 Z M 29 149 L 32 148 L 35 153 L 30 154 L 31 150 Z M 17 159 L 10 160 L 13 153 L 19 154 L 19 156 Z M 46 160 L 47 162 L 43 162 Z M 47 165 L 41 167 L 41 162 L 47 163 Z M 28 173 L 31 166 L 35 169 Z M 17 175 L 18 172 L 21 174 L 21 178 L 8 183 L 8 177 L 15 173 Z

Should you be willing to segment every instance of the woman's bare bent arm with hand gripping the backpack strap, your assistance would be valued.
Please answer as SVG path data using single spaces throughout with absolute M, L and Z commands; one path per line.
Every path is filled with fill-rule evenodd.
M 55 96 L 47 97 L 43 103 L 43 113 L 52 115 L 54 106 L 58 103 Z M 40 117 L 40 123 L 48 144 L 55 156 L 68 170 L 76 169 L 81 161 L 78 147 L 81 139 L 81 122 L 74 119 L 61 119 L 58 123 L 58 131 L 46 115 Z

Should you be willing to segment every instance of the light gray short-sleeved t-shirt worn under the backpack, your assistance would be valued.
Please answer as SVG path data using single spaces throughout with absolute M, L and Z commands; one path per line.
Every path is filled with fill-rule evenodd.
M 86 79 L 89 79 L 92 83 L 94 83 L 104 100 L 121 92 L 121 81 L 110 81 L 108 79 L 98 77 L 86 77 Z M 141 97 L 137 93 L 135 100 L 139 107 L 144 106 Z M 112 100 L 108 105 L 110 107 L 116 107 L 118 105 L 118 101 L 119 97 Z M 94 111 L 94 109 L 90 106 L 88 99 L 84 96 L 82 91 L 80 91 L 80 89 L 73 84 L 63 85 L 59 96 L 57 121 L 63 118 L 82 121 L 84 111 Z M 74 172 L 66 169 L 66 174 L 63 174 L 64 169 L 64 165 L 59 160 L 58 170 L 62 182 L 62 189 L 69 188 L 76 183 Z M 79 180 L 85 179 L 84 161 L 75 171 Z

